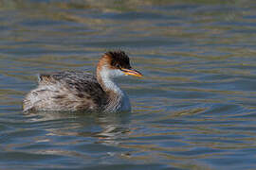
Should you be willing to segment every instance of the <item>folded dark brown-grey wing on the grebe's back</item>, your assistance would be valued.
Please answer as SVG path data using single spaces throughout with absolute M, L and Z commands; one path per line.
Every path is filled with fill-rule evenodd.
M 80 71 L 65 71 L 39 75 L 39 85 L 58 85 L 68 90 L 77 100 L 86 103 L 93 101 L 98 106 L 105 104 L 106 93 L 102 90 L 96 76 Z

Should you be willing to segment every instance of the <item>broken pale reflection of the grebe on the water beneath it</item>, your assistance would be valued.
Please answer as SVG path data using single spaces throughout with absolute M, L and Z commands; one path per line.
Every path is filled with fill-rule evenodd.
M 46 129 L 46 137 L 69 136 L 73 140 L 68 143 L 72 144 L 81 143 L 79 141 L 81 137 L 84 137 L 84 139 L 93 137 L 95 139 L 92 140 L 94 143 L 119 144 L 116 139 L 131 132 L 128 127 L 130 112 L 37 111 L 29 112 L 26 116 L 28 122 L 37 123 L 39 127 Z M 46 139 L 43 141 L 46 141 Z

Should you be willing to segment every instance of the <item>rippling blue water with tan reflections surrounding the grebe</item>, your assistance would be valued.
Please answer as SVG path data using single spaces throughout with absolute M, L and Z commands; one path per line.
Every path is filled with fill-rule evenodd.
M 253 0 L 0 1 L 0 169 L 256 169 Z M 133 110 L 25 114 L 36 75 L 122 49 Z

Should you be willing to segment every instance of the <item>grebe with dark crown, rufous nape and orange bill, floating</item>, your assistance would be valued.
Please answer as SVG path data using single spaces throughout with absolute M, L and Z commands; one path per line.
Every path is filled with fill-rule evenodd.
M 113 80 L 116 76 L 142 76 L 131 67 L 128 56 L 123 51 L 105 53 L 96 73 L 94 76 L 82 71 L 64 71 L 39 75 L 38 87 L 24 99 L 24 111 L 131 110 L 128 96 Z

